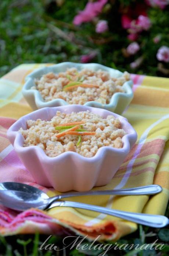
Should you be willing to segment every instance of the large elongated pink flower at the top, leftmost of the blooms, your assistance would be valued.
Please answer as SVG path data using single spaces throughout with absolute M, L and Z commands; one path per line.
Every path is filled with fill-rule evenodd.
M 73 24 L 80 25 L 83 22 L 93 20 L 94 17 L 101 13 L 107 1 L 108 0 L 97 0 L 95 2 L 88 2 L 84 10 L 80 11 L 79 14 L 75 16 Z

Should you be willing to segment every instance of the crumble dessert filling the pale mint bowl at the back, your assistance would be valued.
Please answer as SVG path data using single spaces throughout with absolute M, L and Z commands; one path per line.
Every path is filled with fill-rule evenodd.
M 68 104 L 83 105 L 87 101 L 109 104 L 114 93 L 125 92 L 122 85 L 128 80 L 130 75 L 127 72 L 115 78 L 103 70 L 69 68 L 66 72 L 50 72 L 35 79 L 36 86 L 31 89 L 38 90 L 46 102 L 61 98 Z

